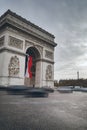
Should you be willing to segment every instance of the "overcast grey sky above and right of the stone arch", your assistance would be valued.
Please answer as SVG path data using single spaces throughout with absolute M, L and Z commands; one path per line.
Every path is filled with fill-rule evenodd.
M 55 36 L 55 79 L 87 78 L 87 0 L 0 0 L 8 9 Z

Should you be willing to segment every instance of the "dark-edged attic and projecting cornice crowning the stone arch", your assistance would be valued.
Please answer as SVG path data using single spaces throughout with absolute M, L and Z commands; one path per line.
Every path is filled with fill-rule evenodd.
M 14 18 L 17 18 L 18 20 L 21 20 L 21 22 L 17 21 L 17 19 L 13 20 L 11 18 L 11 16 L 13 16 Z M 25 26 L 22 25 L 22 21 L 24 22 L 23 24 Z M 1 28 L 6 27 L 6 26 L 10 26 L 10 27 L 15 28 L 17 30 L 21 30 L 24 33 L 28 33 L 32 36 L 35 36 L 36 38 L 39 38 L 39 39 L 47 42 L 48 44 L 52 45 L 53 47 L 55 47 L 57 45 L 53 40 L 50 40 L 49 38 L 45 38 L 45 36 L 42 36 L 40 34 L 40 32 L 39 33 L 37 31 L 35 32 L 34 28 L 29 29 L 29 27 L 26 27 L 27 25 L 33 26 L 35 29 L 37 29 L 37 31 L 40 30 L 45 35 L 47 34 L 47 36 L 49 38 L 54 39 L 54 36 L 51 35 L 50 33 L 46 32 L 45 30 L 43 30 L 43 29 L 39 28 L 38 26 L 32 24 L 31 22 L 27 21 L 26 19 L 22 18 L 21 16 L 17 15 L 16 13 L 11 12 L 10 10 L 8 10 L 5 14 L 3 14 L 0 17 L 0 27 Z

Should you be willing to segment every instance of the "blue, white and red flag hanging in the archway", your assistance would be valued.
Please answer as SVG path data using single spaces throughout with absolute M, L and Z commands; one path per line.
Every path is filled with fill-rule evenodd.
M 32 56 L 27 56 L 25 66 L 25 77 L 32 78 L 31 67 L 32 67 Z

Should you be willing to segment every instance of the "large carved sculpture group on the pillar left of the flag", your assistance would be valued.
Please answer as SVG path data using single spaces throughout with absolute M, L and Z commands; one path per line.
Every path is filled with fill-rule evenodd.
M 19 58 L 17 56 L 11 57 L 8 66 L 9 76 L 18 76 L 20 70 Z

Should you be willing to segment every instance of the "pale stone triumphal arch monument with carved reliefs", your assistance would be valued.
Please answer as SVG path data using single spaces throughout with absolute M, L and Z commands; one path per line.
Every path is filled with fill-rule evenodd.
M 0 17 L 0 85 L 54 86 L 54 35 L 8 10 Z M 27 55 L 32 78 L 26 78 Z

